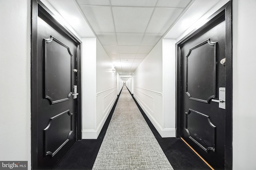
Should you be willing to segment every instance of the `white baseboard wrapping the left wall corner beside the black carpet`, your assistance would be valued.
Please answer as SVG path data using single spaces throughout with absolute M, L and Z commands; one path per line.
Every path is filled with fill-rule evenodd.
M 98 125 L 97 130 L 82 130 L 82 139 L 97 139 L 98 138 L 100 131 L 101 131 L 103 125 L 105 124 L 106 119 L 108 118 L 108 115 L 109 115 L 110 111 L 112 110 L 117 98 L 118 98 L 118 96 L 113 98 L 113 100 L 111 101 L 110 106 L 108 107 L 108 111 L 106 112 L 106 114 L 104 115 L 104 118 Z

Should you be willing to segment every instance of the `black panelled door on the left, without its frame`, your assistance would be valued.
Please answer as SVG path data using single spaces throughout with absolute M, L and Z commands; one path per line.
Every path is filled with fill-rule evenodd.
M 38 163 L 52 167 L 76 141 L 76 45 L 38 17 Z

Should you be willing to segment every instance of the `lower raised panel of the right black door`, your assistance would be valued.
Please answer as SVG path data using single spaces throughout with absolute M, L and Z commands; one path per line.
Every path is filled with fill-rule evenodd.
M 185 129 L 188 137 L 204 151 L 215 151 L 216 126 L 208 115 L 189 109 L 186 113 Z

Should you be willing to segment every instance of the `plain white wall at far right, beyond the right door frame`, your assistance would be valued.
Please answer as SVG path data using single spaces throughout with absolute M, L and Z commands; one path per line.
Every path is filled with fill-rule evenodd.
M 233 0 L 233 169 L 255 169 L 256 1 Z

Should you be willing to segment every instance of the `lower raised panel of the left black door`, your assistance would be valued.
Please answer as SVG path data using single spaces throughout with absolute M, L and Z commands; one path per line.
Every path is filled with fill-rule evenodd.
M 50 118 L 44 129 L 44 150 L 46 155 L 54 156 L 70 139 L 72 134 L 72 113 L 64 111 Z

